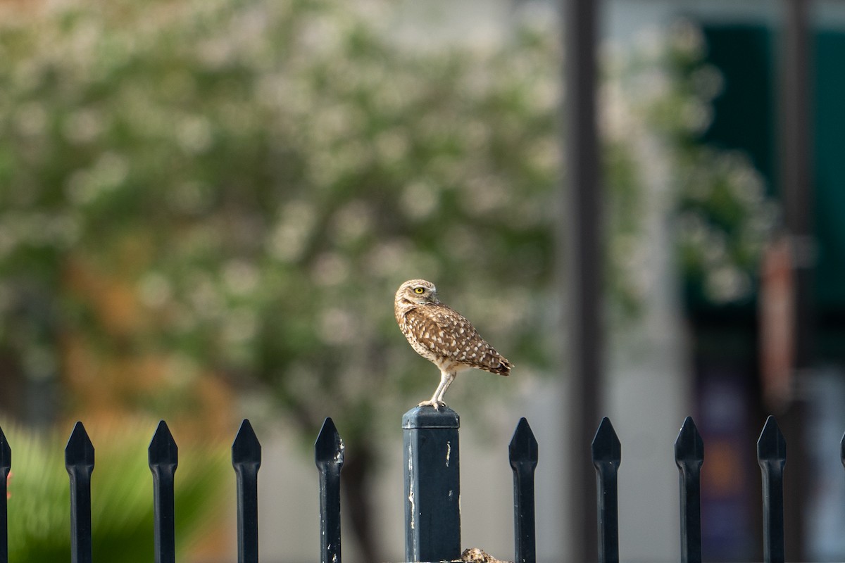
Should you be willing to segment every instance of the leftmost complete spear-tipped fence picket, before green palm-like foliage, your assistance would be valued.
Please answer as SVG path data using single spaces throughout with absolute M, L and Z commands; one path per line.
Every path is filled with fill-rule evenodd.
M 70 476 L 70 560 L 91 563 L 91 473 L 94 446 L 85 426 L 74 425 L 64 448 L 64 467 Z

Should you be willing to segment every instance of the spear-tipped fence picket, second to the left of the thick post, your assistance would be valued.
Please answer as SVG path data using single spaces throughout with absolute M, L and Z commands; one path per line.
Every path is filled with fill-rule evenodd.
M 237 474 L 237 560 L 258 563 L 261 444 L 249 420 L 243 420 L 232 443 L 232 466 Z

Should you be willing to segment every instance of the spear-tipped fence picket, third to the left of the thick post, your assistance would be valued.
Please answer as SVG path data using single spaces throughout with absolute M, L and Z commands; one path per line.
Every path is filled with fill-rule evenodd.
M 173 435 L 164 420 L 155 429 L 147 450 L 150 471 L 153 474 L 153 517 L 155 563 L 176 561 L 176 515 L 173 479 L 178 464 L 179 451 Z

